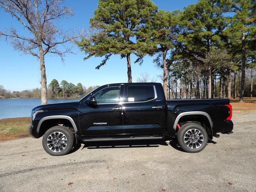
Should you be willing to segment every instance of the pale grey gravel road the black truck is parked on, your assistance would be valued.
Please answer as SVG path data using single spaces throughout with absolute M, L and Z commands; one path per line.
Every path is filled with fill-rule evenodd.
M 196 154 L 175 141 L 90 142 L 61 157 L 42 139 L 0 142 L 0 192 L 256 192 L 256 110 L 233 113 L 234 134 Z

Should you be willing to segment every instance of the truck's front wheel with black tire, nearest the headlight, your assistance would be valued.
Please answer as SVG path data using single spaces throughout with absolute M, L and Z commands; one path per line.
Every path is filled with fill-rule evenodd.
M 53 135 L 50 136 L 50 134 L 53 134 Z M 57 136 L 56 138 L 54 138 L 54 134 L 55 136 Z M 61 135 L 61 134 L 64 134 L 64 135 Z M 47 141 L 48 139 L 50 140 L 49 142 Z M 56 145 L 54 145 L 54 142 L 56 142 Z M 74 143 L 74 134 L 70 129 L 64 126 L 54 126 L 48 129 L 44 133 L 43 140 L 42 140 L 44 150 L 52 156 L 62 156 L 62 155 L 68 154 L 68 152 L 70 152 L 70 150 L 73 147 L 73 143 Z M 58 147 L 57 145 L 60 147 Z M 56 148 L 54 148 L 54 146 L 56 146 Z

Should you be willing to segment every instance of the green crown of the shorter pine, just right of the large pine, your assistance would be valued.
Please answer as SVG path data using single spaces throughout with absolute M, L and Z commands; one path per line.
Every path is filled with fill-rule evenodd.
M 177 36 L 180 34 L 178 22 L 180 19 L 180 11 L 173 12 L 159 10 L 142 30 L 137 33 L 138 48 L 137 62 L 143 62 L 142 58 L 146 54 L 150 56 L 158 54 L 155 62 L 160 65 L 158 58 L 161 54 L 167 55 L 169 50 L 174 51 Z

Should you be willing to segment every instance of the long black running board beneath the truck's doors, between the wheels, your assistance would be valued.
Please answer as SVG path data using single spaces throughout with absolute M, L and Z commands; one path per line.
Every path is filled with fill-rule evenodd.
M 164 136 L 161 137 L 123 137 L 123 138 L 82 138 L 82 142 L 86 141 L 125 141 L 125 140 L 153 140 L 153 139 L 164 139 Z

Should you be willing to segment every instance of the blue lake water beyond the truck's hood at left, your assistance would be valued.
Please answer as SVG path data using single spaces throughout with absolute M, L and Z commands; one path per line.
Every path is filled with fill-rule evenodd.
M 79 99 L 48 99 L 48 104 L 74 102 Z M 41 99 L 0 99 L 0 119 L 29 117 L 31 110 L 41 105 Z

